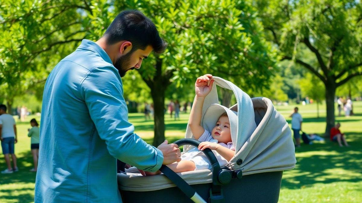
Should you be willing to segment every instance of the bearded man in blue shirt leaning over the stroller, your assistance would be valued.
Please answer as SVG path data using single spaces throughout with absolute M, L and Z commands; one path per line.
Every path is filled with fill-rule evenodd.
M 157 149 L 134 134 L 123 98 L 121 77 L 166 45 L 150 19 L 127 10 L 55 66 L 43 93 L 35 202 L 122 202 L 116 158 L 151 172 L 181 160 L 176 144 Z

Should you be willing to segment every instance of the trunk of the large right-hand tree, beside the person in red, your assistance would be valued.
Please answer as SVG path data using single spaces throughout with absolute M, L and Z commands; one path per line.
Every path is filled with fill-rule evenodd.
M 336 84 L 329 83 L 325 86 L 325 103 L 327 104 L 327 125 L 325 127 L 325 136 L 328 137 L 331 128 L 334 126 L 334 97 L 336 95 Z

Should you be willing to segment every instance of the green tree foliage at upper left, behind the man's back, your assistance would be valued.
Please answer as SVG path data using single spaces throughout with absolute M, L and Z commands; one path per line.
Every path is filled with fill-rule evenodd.
M 87 8 L 77 1 L 1 2 L 0 86 L 9 109 L 83 39 L 77 9 Z

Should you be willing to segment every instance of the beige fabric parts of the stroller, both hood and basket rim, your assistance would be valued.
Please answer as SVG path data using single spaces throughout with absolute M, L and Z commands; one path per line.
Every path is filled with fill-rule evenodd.
M 291 130 L 285 118 L 275 110 L 273 103 L 263 97 L 251 99 L 230 81 L 219 77 L 213 79 L 215 79 L 214 86 L 203 105 L 203 116 L 210 106 L 219 103 L 216 85 L 232 90 L 237 100 L 237 104 L 230 108 L 237 112 L 237 133 L 236 136 L 232 136 L 236 150 L 227 167 L 231 170 L 241 170 L 243 176 L 293 169 L 296 159 Z M 202 117 L 204 128 L 210 128 L 203 121 Z M 192 138 L 189 126 L 185 138 Z M 185 145 L 184 151 L 192 147 Z M 178 174 L 190 185 L 212 182 L 212 173 L 209 169 Z M 137 172 L 118 173 L 118 184 L 120 189 L 129 191 L 152 191 L 175 186 L 163 174 L 142 177 Z

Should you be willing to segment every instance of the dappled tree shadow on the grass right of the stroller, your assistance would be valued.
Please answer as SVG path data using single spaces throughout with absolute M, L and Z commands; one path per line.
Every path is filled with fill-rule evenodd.
M 296 168 L 284 172 L 282 188 L 300 189 L 315 183 L 362 181 L 360 150 L 361 133 L 346 133 L 350 147 L 339 147 L 337 143 L 302 145 L 296 149 Z

